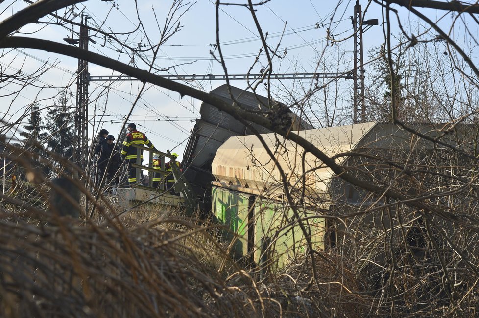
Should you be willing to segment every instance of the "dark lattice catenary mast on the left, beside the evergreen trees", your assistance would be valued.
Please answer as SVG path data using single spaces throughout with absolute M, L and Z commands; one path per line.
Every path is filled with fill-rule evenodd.
M 88 51 L 88 16 L 81 16 L 80 37 L 78 47 Z M 76 78 L 76 112 L 75 112 L 75 133 L 76 133 L 76 163 L 86 167 L 86 147 L 88 139 L 88 85 L 90 84 L 88 73 L 88 61 L 78 60 L 78 76 Z

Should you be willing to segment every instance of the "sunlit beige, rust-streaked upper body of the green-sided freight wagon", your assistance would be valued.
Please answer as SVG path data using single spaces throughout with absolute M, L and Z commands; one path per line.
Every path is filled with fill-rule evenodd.
M 376 125 L 375 122 L 356 125 L 312 129 L 296 132 L 309 140 L 328 156 L 347 153 Z M 274 133 L 261 135 L 275 153 L 288 182 L 300 188 L 303 175 L 303 148 Z M 341 164 L 346 157 L 339 157 Z M 305 156 L 306 189 L 316 195 L 327 195 L 328 184 L 334 173 L 311 153 Z M 274 196 L 283 193 L 280 173 L 259 138 L 254 135 L 230 137 L 216 152 L 212 164 L 213 184 L 252 194 Z

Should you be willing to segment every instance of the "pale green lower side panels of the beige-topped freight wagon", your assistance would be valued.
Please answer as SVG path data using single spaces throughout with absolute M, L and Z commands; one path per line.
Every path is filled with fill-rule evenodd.
M 235 254 L 250 255 L 256 263 L 282 267 L 304 254 L 308 242 L 314 250 L 324 249 L 325 219 L 313 211 L 295 215 L 283 202 L 216 186 L 212 211 L 226 225 Z

